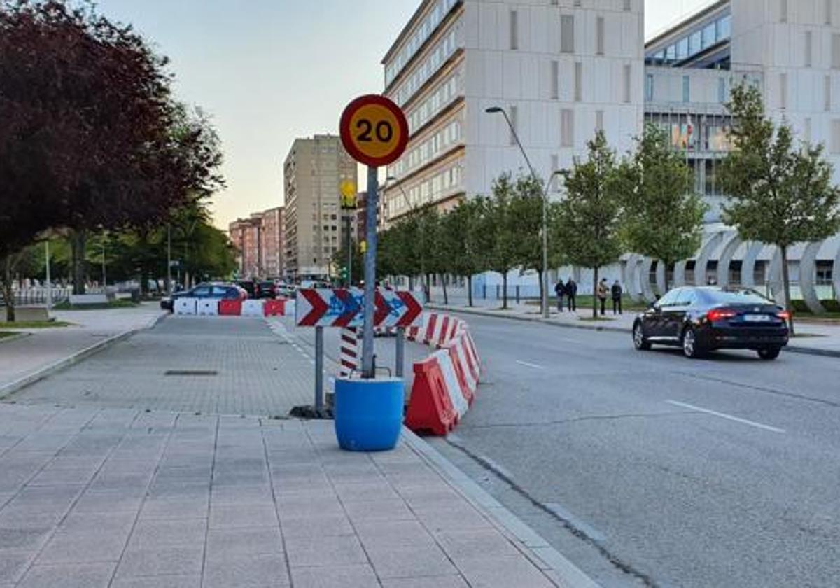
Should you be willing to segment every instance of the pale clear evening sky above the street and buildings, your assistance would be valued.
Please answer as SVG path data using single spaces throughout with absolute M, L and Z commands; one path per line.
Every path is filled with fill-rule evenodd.
M 598 2 L 599 0 L 596 0 Z M 651 36 L 712 0 L 646 0 Z M 296 137 L 338 133 L 353 97 L 381 93 L 381 59 L 421 0 L 98 0 L 170 58 L 176 97 L 209 113 L 227 187 L 213 218 L 283 202 Z

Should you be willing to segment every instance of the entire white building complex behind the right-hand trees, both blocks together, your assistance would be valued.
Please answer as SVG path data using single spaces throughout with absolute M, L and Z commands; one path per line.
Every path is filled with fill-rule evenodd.
M 486 108 L 505 109 L 543 177 L 585 155 L 596 129 L 623 154 L 654 123 L 695 170 L 709 204 L 706 236 L 694 259 L 665 268 L 627 255 L 606 277 L 646 299 L 662 293 L 666 272 L 676 285 L 739 283 L 779 298 L 779 252 L 741 243 L 721 222 L 725 103 L 734 85 L 757 85 L 771 117 L 825 145 L 840 183 L 840 0 L 710 2 L 647 43 L 643 22 L 643 0 L 423 0 L 383 60 L 385 94 L 412 133 L 388 169 L 397 181 L 385 192 L 386 221 L 430 203 L 454 206 L 489 193 L 502 172 L 526 169 L 504 118 Z M 586 271 L 560 275 L 573 272 L 586 291 Z M 790 274 L 813 310 L 840 300 L 840 236 L 796 246 Z M 509 277 L 536 294 L 535 276 Z M 496 282 L 482 276 L 475 287 Z

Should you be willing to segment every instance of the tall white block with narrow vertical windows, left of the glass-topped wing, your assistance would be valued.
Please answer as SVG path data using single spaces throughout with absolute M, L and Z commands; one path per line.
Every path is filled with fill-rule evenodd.
M 386 223 L 527 171 L 487 108 L 504 109 L 542 176 L 584 154 L 596 129 L 627 150 L 643 119 L 643 25 L 643 0 L 424 0 L 382 61 L 411 134 L 388 167 Z

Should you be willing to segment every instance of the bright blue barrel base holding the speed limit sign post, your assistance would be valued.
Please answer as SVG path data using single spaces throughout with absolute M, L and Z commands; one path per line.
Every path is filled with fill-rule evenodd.
M 402 431 L 402 378 L 336 378 L 335 436 L 345 451 L 388 451 Z

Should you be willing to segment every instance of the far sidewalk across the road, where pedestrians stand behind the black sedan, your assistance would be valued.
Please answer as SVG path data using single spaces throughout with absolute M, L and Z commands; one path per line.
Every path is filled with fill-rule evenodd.
M 467 307 L 464 301 L 456 301 L 449 306 L 438 303 L 427 304 L 430 310 L 445 310 L 449 312 L 465 312 L 486 317 L 509 318 L 523 321 L 537 321 L 549 323 L 561 327 L 590 328 L 601 331 L 620 331 L 630 333 L 633 329 L 633 320 L 638 316 L 638 311 L 627 311 L 620 315 L 612 314 L 612 309 L 607 309 L 604 319 L 592 320 L 592 309 L 590 307 L 578 307 L 577 312 L 557 312 L 556 308 L 551 309 L 551 317 L 543 319 L 538 306 L 531 304 L 508 301 L 508 309 L 501 310 L 501 302 L 496 300 L 475 300 L 474 307 Z M 798 350 L 815 354 L 837 355 L 840 357 L 840 325 L 817 324 L 809 322 L 795 323 L 797 336 L 790 340 L 789 350 Z

